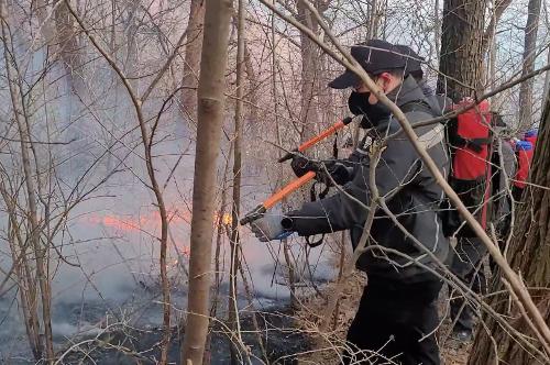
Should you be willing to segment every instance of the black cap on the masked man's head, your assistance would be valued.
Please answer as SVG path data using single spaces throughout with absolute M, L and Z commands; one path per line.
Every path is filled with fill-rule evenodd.
M 382 40 L 370 40 L 351 47 L 351 55 L 371 75 L 406 67 L 406 59 L 394 44 Z M 333 89 L 345 89 L 361 84 L 361 78 L 346 69 L 342 75 L 329 82 Z

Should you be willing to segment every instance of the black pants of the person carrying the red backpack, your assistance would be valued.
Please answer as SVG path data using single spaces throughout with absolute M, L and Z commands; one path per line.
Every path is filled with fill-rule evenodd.
M 451 272 L 476 294 L 485 294 L 487 284 L 483 269 L 483 257 L 487 248 L 480 239 L 459 239 Z M 464 302 L 464 297 L 451 290 L 451 320 L 457 319 L 455 331 L 472 331 L 475 308 Z

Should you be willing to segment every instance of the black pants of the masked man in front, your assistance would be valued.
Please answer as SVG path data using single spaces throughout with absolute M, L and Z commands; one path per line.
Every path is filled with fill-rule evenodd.
M 441 283 L 404 285 L 369 278 L 361 303 L 348 331 L 343 363 L 438 365 L 435 329 Z M 420 341 L 421 340 L 421 341 Z

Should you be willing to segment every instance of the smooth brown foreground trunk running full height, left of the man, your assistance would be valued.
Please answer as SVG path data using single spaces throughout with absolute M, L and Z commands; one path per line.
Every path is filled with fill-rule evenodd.
M 202 364 L 208 332 L 216 162 L 223 121 L 224 70 L 232 2 L 206 0 L 205 34 L 198 88 L 198 125 L 193 189 L 191 247 L 187 327 L 183 365 Z

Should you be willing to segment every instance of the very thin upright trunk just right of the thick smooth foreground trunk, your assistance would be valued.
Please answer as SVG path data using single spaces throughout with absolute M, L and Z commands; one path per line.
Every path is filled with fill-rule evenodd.
M 229 270 L 229 328 L 240 338 L 239 308 L 237 306 L 237 277 L 240 266 L 239 215 L 241 209 L 241 155 L 242 155 L 242 111 L 243 111 L 243 74 L 244 74 L 244 1 L 239 0 L 237 16 L 237 103 L 233 134 L 233 204 L 231 209 L 231 266 Z M 235 347 L 233 335 L 230 338 L 231 364 L 239 363 L 239 349 Z

